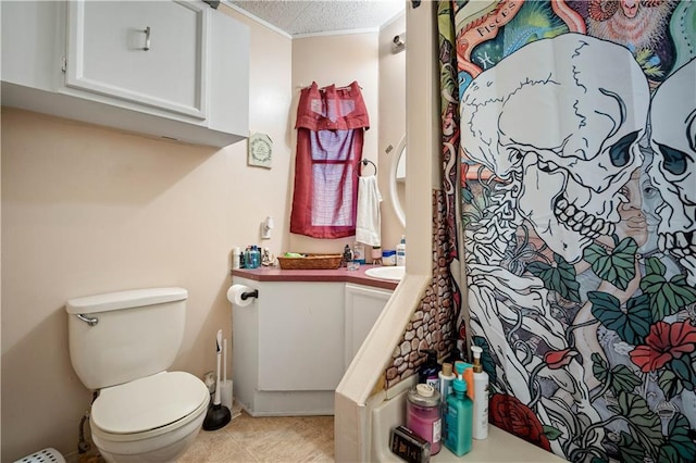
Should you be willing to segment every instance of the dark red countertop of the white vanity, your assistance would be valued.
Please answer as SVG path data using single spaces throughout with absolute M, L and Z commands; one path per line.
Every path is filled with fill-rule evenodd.
M 253 279 L 257 281 L 344 281 L 356 285 L 372 286 L 394 290 L 398 281 L 373 278 L 365 275 L 368 268 L 375 265 L 360 265 L 356 271 L 345 267 L 336 270 L 285 270 L 281 267 L 259 267 L 259 268 L 236 268 L 232 271 L 232 276 Z

